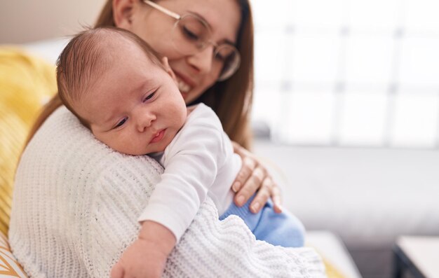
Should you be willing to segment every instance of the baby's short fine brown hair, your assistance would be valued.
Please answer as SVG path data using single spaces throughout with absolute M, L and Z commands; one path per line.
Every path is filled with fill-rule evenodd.
M 58 95 L 62 104 L 72 111 L 88 129 L 90 129 L 88 121 L 76 113 L 73 105 L 81 100 L 104 71 L 109 67 L 117 67 L 112 64 L 112 48 L 109 48 L 109 45 L 116 41 L 114 36 L 119 36 L 117 39 L 126 39 L 135 43 L 154 64 L 164 69 L 158 59 L 158 54 L 139 36 L 125 29 L 97 27 L 74 36 L 62 50 L 56 64 Z

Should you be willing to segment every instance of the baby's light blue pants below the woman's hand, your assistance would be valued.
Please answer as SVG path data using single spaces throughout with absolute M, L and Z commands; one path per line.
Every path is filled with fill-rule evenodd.
M 257 214 L 253 214 L 249 206 L 254 197 L 255 195 L 243 207 L 237 207 L 236 204 L 232 203 L 229 209 L 222 216 L 219 216 L 219 220 L 233 214 L 243 219 L 258 240 L 284 247 L 304 246 L 305 229 L 297 217 L 288 211 L 276 214 L 271 200 L 266 202 Z

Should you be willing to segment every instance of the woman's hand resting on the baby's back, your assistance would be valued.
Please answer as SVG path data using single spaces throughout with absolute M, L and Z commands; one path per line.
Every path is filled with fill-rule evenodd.
M 231 187 L 236 193 L 234 198 L 235 204 L 238 207 L 242 207 L 256 193 L 255 199 L 250 204 L 250 211 L 252 213 L 259 212 L 269 200 L 269 197 L 273 201 L 274 211 L 280 213 L 282 211 L 280 190 L 273 179 L 271 179 L 264 165 L 257 160 L 255 155 L 238 143 L 232 141 L 232 144 L 235 153 L 241 156 L 243 160 L 243 166 Z

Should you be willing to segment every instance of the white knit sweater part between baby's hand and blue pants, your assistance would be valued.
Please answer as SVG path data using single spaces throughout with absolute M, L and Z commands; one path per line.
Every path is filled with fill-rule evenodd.
M 258 241 L 238 216 L 217 219 L 208 198 L 170 254 L 164 277 L 325 277 L 313 249 Z

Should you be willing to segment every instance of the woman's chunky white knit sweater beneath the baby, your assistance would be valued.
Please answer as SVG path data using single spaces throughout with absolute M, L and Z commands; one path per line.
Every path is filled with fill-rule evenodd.
M 9 239 L 30 277 L 109 277 L 137 237 L 163 169 L 147 156 L 122 155 L 93 138 L 65 109 L 27 146 L 16 174 Z M 202 204 L 170 254 L 163 277 L 324 277 L 313 249 L 255 240 L 238 217 L 218 220 Z

